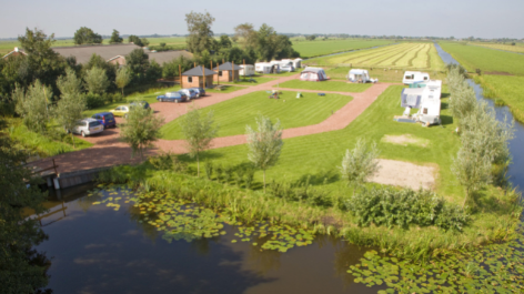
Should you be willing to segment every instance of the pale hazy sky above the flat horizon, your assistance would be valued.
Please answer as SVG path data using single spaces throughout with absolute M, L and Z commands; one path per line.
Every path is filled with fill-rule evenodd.
M 38 28 L 56 38 L 80 27 L 109 36 L 185 34 L 185 13 L 210 12 L 215 33 L 268 23 L 285 33 L 524 38 L 523 0 L 23 0 L 0 4 L 0 38 Z

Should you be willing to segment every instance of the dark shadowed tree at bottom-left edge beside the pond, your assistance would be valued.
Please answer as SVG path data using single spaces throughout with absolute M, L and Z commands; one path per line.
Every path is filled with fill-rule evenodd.
M 28 155 L 6 133 L 0 121 L 0 285 L 2 293 L 36 293 L 48 284 L 50 261 L 33 247 L 47 239 L 38 221 L 26 209 L 42 213 L 47 195 L 31 171 L 20 164 Z

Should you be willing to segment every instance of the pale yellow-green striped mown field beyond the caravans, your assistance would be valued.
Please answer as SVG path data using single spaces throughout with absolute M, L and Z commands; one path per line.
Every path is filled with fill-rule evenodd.
M 312 59 L 308 63 L 319 65 L 351 64 L 352 67 L 434 70 L 443 70 L 445 67 L 432 43 L 400 43 Z

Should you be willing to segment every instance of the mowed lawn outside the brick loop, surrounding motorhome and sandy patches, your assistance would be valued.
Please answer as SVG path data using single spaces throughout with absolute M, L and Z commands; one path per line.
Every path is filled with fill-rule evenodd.
M 453 133 L 456 123 L 447 109 L 447 94 L 442 99 L 443 126 L 422 128 L 420 124 L 399 123 L 393 121 L 400 115 L 402 85 L 390 87 L 379 99 L 370 105 L 349 126 L 340 131 L 304 135 L 284 140 L 284 146 L 278 164 L 268 170 L 268 181 L 273 180 L 305 180 L 326 187 L 345 190 L 340 180 L 337 166 L 346 149 L 353 149 L 359 138 L 377 142 L 381 158 L 412 162 L 436 168 L 436 192 L 449 200 L 460 203 L 464 192 L 451 173 L 452 156 L 460 148 L 460 138 Z M 444 91 L 447 89 L 444 88 Z M 384 135 L 412 134 L 429 142 L 426 148 L 417 145 L 402 145 L 382 142 Z M 236 145 L 205 152 L 203 160 L 212 160 L 218 164 L 239 164 L 248 162 L 248 146 Z M 191 164 L 194 160 L 183 159 Z M 202 158 L 201 158 L 202 160 Z M 402 171 L 399 171 L 402 172 Z M 325 179 L 325 180 L 324 180 Z M 262 181 L 262 172 L 256 172 L 255 180 Z

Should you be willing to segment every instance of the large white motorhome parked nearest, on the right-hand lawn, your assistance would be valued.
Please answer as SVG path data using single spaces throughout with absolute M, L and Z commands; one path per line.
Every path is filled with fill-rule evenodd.
M 427 81 L 417 84 L 416 88 L 404 89 L 401 94 L 401 107 L 406 108 L 405 113 L 414 108 L 419 109 L 413 119 L 426 125 L 441 122 L 441 93 L 442 81 Z

